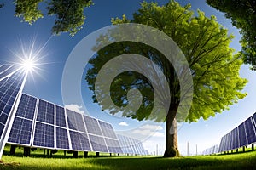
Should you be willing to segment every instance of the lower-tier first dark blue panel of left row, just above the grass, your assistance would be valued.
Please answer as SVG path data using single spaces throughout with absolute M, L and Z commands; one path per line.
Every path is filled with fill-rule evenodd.
M 15 117 L 8 142 L 15 144 L 30 144 L 32 134 L 32 121 Z

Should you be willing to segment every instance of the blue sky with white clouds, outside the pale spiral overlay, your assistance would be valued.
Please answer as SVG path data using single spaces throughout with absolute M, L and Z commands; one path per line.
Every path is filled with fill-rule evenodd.
M 6 2 L 6 1 L 4 1 Z M 55 104 L 63 105 L 61 98 L 61 77 L 65 62 L 80 40 L 104 26 L 109 26 L 110 19 L 113 17 L 121 17 L 126 14 L 131 18 L 131 14 L 137 11 L 139 0 L 130 1 L 102 1 L 94 0 L 95 5 L 85 9 L 85 25 L 82 31 L 79 31 L 75 37 L 69 37 L 67 33 L 61 36 L 51 36 L 50 29 L 54 24 L 54 18 L 45 16 L 39 19 L 32 26 L 27 23 L 20 22 L 19 18 L 14 17 L 15 7 L 12 3 L 6 3 L 4 8 L 0 8 L 0 62 L 14 62 L 17 60 L 12 53 L 20 53 L 20 42 L 24 46 L 29 46 L 35 40 L 36 47 L 41 47 L 47 42 L 42 51 L 43 59 L 40 60 L 41 70 L 34 77 L 29 77 L 26 82 L 24 92 L 34 95 L 41 99 L 49 100 Z M 165 4 L 168 0 L 156 1 L 159 4 Z M 224 14 L 219 13 L 215 9 L 207 6 L 204 0 L 180 0 L 181 4 L 191 3 L 192 9 L 196 11 L 200 8 L 207 16 L 216 15 L 218 22 L 229 29 L 229 32 L 235 35 L 233 42 L 230 44 L 232 48 L 239 50 L 239 35 L 236 28 L 231 26 L 230 20 L 224 18 Z M 209 118 L 207 121 L 199 120 L 199 122 L 183 123 L 178 130 L 179 149 L 183 155 L 187 153 L 187 142 L 189 142 L 189 153 L 195 153 L 195 144 L 198 145 L 198 151 L 218 144 L 221 137 L 228 133 L 231 129 L 245 121 L 248 116 L 255 112 L 254 101 L 256 99 L 256 72 L 250 71 L 247 65 L 241 67 L 241 77 L 247 78 L 244 91 L 247 97 L 239 101 L 238 104 L 232 105 L 229 111 L 217 114 L 215 117 Z M 157 128 L 151 138 L 144 140 L 143 144 L 149 152 L 153 152 L 158 144 L 159 154 L 163 154 L 165 147 L 165 124 L 148 125 L 147 122 L 137 122 L 127 118 L 117 118 L 102 113 L 100 108 L 92 103 L 91 93 L 86 89 L 86 82 L 82 81 L 81 92 L 84 97 L 84 103 L 91 116 L 96 116 L 104 121 L 111 122 L 116 130 L 131 130 L 134 135 L 143 135 L 152 133 L 152 129 Z M 73 105 L 75 106 L 75 104 Z M 83 110 L 83 108 L 78 108 Z M 143 124 L 143 125 L 142 125 Z M 142 127 L 135 127 L 142 125 Z

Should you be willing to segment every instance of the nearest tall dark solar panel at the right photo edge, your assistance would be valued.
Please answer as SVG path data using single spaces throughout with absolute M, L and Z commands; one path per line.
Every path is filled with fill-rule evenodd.
M 245 122 L 247 144 L 253 144 L 256 142 L 255 127 L 253 126 L 253 118 L 249 117 Z

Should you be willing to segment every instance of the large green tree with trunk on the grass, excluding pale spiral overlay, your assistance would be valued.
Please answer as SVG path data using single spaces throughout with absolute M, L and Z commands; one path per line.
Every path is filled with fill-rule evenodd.
M 245 97 L 246 94 L 241 93 L 241 90 L 247 80 L 239 76 L 242 60 L 237 57 L 237 54 L 234 55 L 234 49 L 229 47 L 232 36 L 229 36 L 227 30 L 218 24 L 214 16 L 207 18 L 201 11 L 198 11 L 195 16 L 190 10 L 190 5 L 182 7 L 174 1 L 170 1 L 164 6 L 143 2 L 138 12 L 133 14 L 132 20 L 128 20 L 125 15 L 122 19 L 112 19 L 114 25 L 128 22 L 152 26 L 165 32 L 183 51 L 189 62 L 194 83 L 193 102 L 189 115 L 185 118 L 186 122 L 196 122 L 201 117 L 206 120 Z M 114 38 L 102 36 L 97 45 L 100 46 L 102 41 L 111 41 Z M 99 102 L 96 99 L 98 88 L 95 86 L 98 72 L 110 59 L 121 54 L 141 54 L 154 61 L 166 77 L 170 87 L 171 102 L 166 115 L 158 113 L 160 116 L 150 116 L 154 105 L 152 82 L 136 71 L 125 71 L 115 77 L 111 84 L 110 95 L 113 103 L 120 108 L 125 107 L 129 100 L 127 99 L 129 89 L 140 90 L 143 94 L 142 105 L 137 112 L 123 112 L 123 116 L 139 121 L 151 119 L 156 122 L 166 122 L 164 156 L 178 156 L 177 122 L 181 120 L 176 117 L 177 107 L 182 97 L 180 96 L 179 80 L 172 64 L 157 49 L 139 42 L 115 42 L 101 48 L 96 56 L 90 59 L 90 69 L 86 75 L 89 88 L 94 92 L 94 102 Z M 135 60 L 132 64 L 137 65 L 137 61 Z M 150 65 L 147 66 L 150 67 Z M 109 69 L 111 70 L 111 68 Z M 156 82 L 160 83 L 160 80 L 156 80 Z M 102 96 L 104 95 L 106 96 L 106 94 L 102 94 Z M 98 104 L 102 106 L 102 110 L 109 110 L 112 114 L 117 113 L 111 106 L 106 108 L 108 106 L 105 106 L 104 102 Z M 172 130 L 174 133 L 171 133 Z

